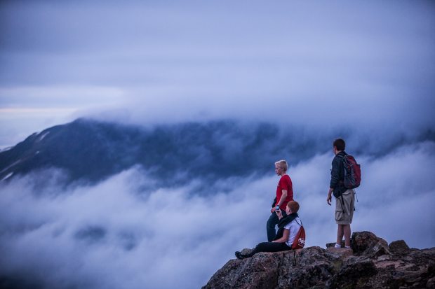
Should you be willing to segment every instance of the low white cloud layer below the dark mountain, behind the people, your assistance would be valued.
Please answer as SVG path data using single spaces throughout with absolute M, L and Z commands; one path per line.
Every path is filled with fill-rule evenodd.
M 383 157 L 356 155 L 363 183 L 353 230 L 434 246 L 434 151 L 435 143 L 424 141 Z M 290 167 L 307 246 L 335 240 L 333 207 L 326 204 L 332 157 L 314 155 Z M 234 251 L 265 241 L 278 181 L 272 174 L 227 179 L 203 196 L 194 193 L 206 186 L 200 176 L 182 188 L 160 185 L 152 192 L 136 169 L 67 189 L 35 191 L 34 177 L 48 175 L 2 184 L 0 278 L 44 288 L 199 288 Z

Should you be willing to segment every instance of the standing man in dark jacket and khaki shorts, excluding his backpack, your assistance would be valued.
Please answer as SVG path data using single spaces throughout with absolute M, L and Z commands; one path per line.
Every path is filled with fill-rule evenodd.
M 330 171 L 330 185 L 326 202 L 331 205 L 332 195 L 335 197 L 335 223 L 337 223 L 337 242 L 335 248 L 341 248 L 344 235 L 344 247 L 350 248 L 350 224 L 354 217 L 354 190 L 344 187 L 344 164 L 343 157 L 347 155 L 344 152 L 346 143 L 343 139 L 335 139 L 333 150 L 335 157 L 333 159 L 333 168 Z

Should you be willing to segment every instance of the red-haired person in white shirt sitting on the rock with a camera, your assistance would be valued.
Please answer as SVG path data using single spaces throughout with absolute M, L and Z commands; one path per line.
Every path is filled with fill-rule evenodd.
M 253 248 L 248 254 L 243 254 L 236 251 L 236 257 L 239 259 L 249 258 L 260 252 L 279 252 L 288 251 L 291 249 L 293 241 L 299 231 L 302 223 L 299 216 L 297 216 L 297 211 L 299 211 L 299 204 L 295 201 L 288 202 L 286 206 L 287 216 L 283 217 L 281 211 L 276 211 L 276 216 L 279 218 L 278 232 L 276 237 L 272 242 L 262 242 Z

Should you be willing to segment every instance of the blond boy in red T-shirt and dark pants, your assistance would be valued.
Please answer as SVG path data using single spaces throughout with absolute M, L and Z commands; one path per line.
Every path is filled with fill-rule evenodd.
M 282 216 L 287 216 L 286 207 L 287 203 L 293 201 L 293 185 L 290 176 L 287 174 L 288 164 L 285 160 L 279 160 L 275 162 L 275 173 L 281 176 L 278 182 L 278 187 L 276 188 L 276 200 L 272 204 L 272 213 L 267 220 L 266 230 L 267 230 L 267 241 L 272 242 L 275 239 L 276 230 L 275 226 L 278 225 L 279 218 L 276 216 L 275 211 L 280 210 Z

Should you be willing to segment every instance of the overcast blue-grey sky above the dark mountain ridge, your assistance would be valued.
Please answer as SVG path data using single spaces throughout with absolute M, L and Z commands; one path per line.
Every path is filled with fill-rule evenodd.
M 81 116 L 434 129 L 431 1 L 2 1 L 0 148 Z M 288 112 L 288 113 L 287 113 Z

